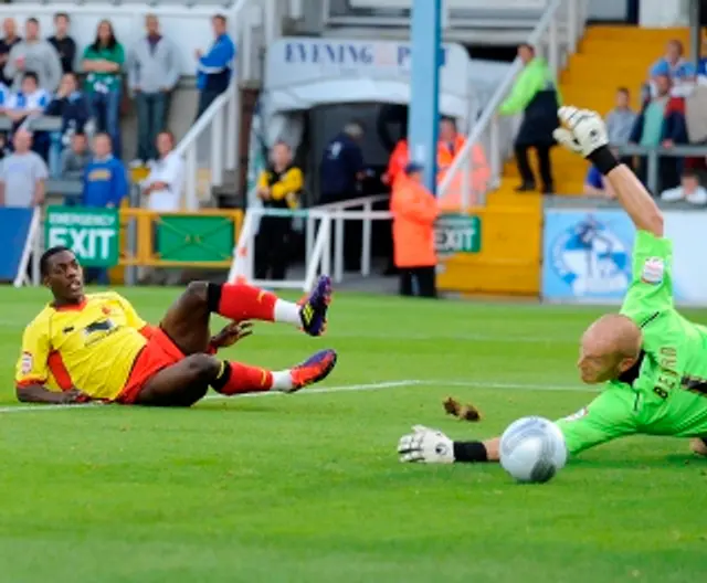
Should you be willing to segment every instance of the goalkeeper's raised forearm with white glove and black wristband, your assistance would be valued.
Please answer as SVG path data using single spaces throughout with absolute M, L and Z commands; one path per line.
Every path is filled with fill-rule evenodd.
M 609 149 L 609 136 L 601 116 L 572 106 L 560 107 L 558 116 L 566 127 L 557 129 L 555 138 L 566 148 L 581 153 L 606 177 L 616 200 L 636 229 L 663 236 L 663 213 L 631 169 L 619 163 Z

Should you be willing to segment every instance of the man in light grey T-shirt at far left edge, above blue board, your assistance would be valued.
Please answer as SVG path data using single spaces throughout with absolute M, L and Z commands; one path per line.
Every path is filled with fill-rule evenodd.
M 44 202 L 44 182 L 49 169 L 31 150 L 32 135 L 19 129 L 12 138 L 14 151 L 2 160 L 0 206 L 39 206 Z

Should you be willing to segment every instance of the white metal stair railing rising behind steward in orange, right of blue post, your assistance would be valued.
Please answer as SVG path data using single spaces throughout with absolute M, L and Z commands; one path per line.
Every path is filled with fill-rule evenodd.
M 564 65 L 567 56 L 574 52 L 580 34 L 587 22 L 587 2 L 579 0 L 551 0 L 542 18 L 528 38 L 528 43 L 536 46 L 538 52 L 547 57 L 549 67 L 556 76 Z M 560 31 L 563 34 L 560 34 Z M 485 204 L 486 194 L 490 188 L 498 186 L 505 159 L 513 150 L 513 141 L 518 128 L 519 116 L 499 118 L 498 108 L 510 92 L 521 63 L 516 59 L 508 74 L 482 110 L 472 126 L 464 147 L 450 166 L 437 189 L 437 195 L 444 198 L 450 194 L 455 184 L 461 183 L 461 205 L 468 209 L 472 203 L 469 174 L 473 174 L 472 148 L 478 145 L 484 148 L 490 168 L 489 187 L 477 192 L 476 204 Z M 461 172 L 461 173 L 460 173 Z

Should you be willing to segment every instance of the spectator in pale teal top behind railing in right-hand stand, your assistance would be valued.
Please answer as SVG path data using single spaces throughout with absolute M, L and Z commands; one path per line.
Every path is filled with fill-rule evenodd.
M 671 77 L 667 71 L 655 76 L 656 94 L 644 104 L 643 110 L 636 118 L 629 141 L 639 144 L 645 148 L 657 148 L 666 140 L 665 112 L 671 93 Z M 677 184 L 677 166 L 675 159 L 662 158 L 659 161 L 661 184 L 663 188 L 672 188 Z M 641 157 L 637 177 L 646 182 L 647 160 Z

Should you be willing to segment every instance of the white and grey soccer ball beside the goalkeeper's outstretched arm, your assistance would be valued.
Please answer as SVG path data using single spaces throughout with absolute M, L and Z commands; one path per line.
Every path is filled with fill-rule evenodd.
M 500 437 L 500 465 L 518 481 L 542 484 L 567 463 L 560 428 L 542 417 L 514 421 Z

